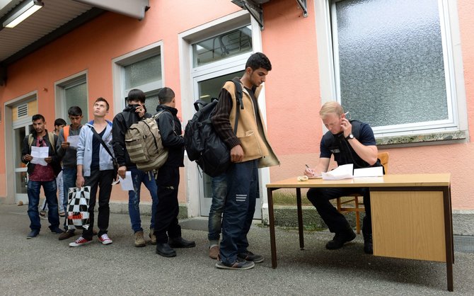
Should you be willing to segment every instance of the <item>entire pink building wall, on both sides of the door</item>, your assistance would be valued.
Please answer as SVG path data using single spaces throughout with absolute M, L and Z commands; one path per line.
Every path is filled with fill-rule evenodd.
M 11 100 L 38 91 L 39 110 L 48 122 L 54 120 L 54 81 L 83 70 L 88 71 L 88 94 L 112 102 L 112 59 L 163 40 L 164 79 L 173 88 L 180 108 L 178 33 L 238 11 L 231 1 L 151 0 L 143 21 L 105 13 L 8 68 L 7 87 L 0 86 L 0 98 Z M 270 57 L 272 72 L 267 77 L 266 100 L 270 142 L 282 165 L 271 169 L 272 181 L 301 174 L 304 164 L 316 164 L 323 127 L 318 118 L 320 81 L 316 50 L 313 0 L 308 0 L 308 18 L 296 1 L 272 0 L 264 4 L 263 52 Z M 463 66 L 473 137 L 474 102 L 474 2 L 458 0 Z M 44 91 L 43 89 L 47 89 Z M 109 115 L 112 119 L 112 114 Z M 4 121 L 0 125 L 3 135 Z M 472 196 L 474 145 L 440 144 L 410 148 L 389 148 L 391 173 L 452 174 L 454 209 L 474 209 Z M 0 146 L 4 155 L 4 146 Z M 0 157 L 0 195 L 4 196 L 4 160 Z M 184 173 L 184 172 L 183 172 Z M 183 176 L 184 178 L 184 176 Z M 2 183 L 3 182 L 3 183 Z M 2 192 L 3 191 L 3 192 Z M 183 190 L 182 190 L 183 192 Z M 115 200 L 126 195 L 114 191 Z M 183 195 L 180 195 L 183 200 Z

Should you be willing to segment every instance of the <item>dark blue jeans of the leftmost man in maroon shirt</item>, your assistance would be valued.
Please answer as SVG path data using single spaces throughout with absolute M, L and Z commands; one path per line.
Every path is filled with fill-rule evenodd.
M 47 220 L 50 222 L 50 229 L 59 226 L 59 214 L 57 212 L 56 180 L 52 181 L 28 181 L 28 217 L 30 217 L 30 229 L 41 229 L 40 213 L 38 205 L 40 203 L 40 188 L 45 190 L 46 202 L 50 210 Z

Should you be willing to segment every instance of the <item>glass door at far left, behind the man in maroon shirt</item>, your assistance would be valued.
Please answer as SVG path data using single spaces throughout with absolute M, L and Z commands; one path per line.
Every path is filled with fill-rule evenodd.
M 21 161 L 21 149 L 23 139 L 30 134 L 33 126 L 30 124 L 30 118 L 27 123 L 15 123 L 13 125 L 13 160 L 15 164 L 15 202 L 28 203 L 28 173 L 26 165 Z

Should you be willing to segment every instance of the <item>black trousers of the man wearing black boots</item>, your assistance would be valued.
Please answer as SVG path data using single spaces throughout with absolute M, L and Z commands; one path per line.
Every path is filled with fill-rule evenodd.
M 180 184 L 180 168 L 177 166 L 162 166 L 158 171 L 156 185 L 158 186 L 159 201 L 156 205 L 155 236 L 157 244 L 167 244 L 168 237 L 181 237 L 181 227 L 178 224 L 178 185 Z

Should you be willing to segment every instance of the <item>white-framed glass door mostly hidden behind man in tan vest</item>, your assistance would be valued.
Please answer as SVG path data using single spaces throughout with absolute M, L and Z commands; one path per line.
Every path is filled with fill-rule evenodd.
M 213 98 L 219 97 L 219 92 L 222 86 L 227 80 L 233 79 L 233 77 L 243 76 L 244 71 L 241 70 L 243 67 L 232 67 L 219 72 L 214 72 L 202 76 L 195 77 L 195 93 L 197 98 L 203 101 L 210 102 Z M 240 71 L 239 71 L 240 70 Z M 212 204 L 212 188 L 211 188 L 211 177 L 207 174 L 202 173 L 200 181 L 200 210 L 202 216 L 209 215 L 209 209 Z M 262 218 L 261 211 L 261 200 L 257 199 L 255 203 L 255 215 L 254 219 Z

